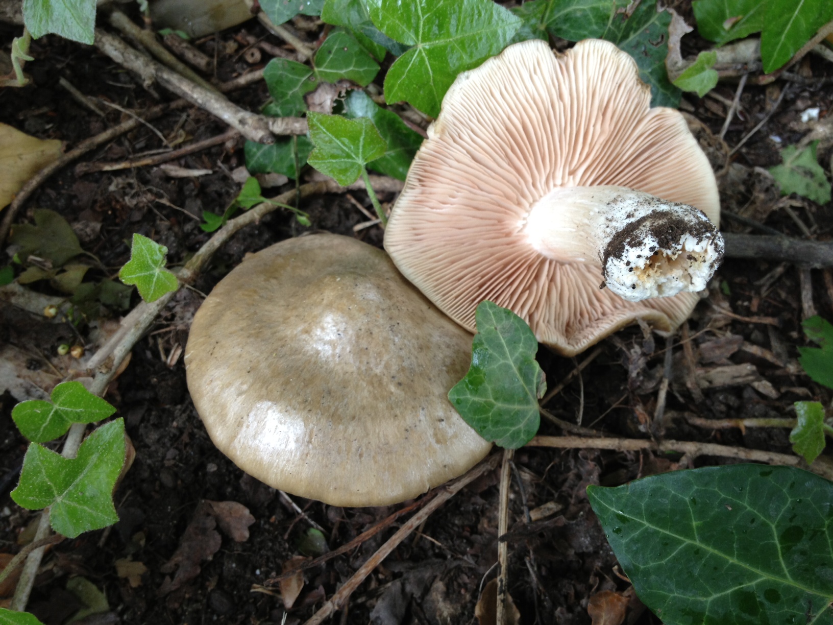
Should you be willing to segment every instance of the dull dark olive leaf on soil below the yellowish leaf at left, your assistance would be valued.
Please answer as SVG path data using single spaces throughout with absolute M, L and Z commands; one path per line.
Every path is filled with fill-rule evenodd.
M 22 247 L 18 252 L 20 258 L 26 260 L 33 254 L 47 258 L 57 268 L 70 258 L 83 253 L 78 238 L 66 219 L 46 208 L 36 208 L 33 216 L 34 225 L 21 223 L 12 228 L 10 240 Z

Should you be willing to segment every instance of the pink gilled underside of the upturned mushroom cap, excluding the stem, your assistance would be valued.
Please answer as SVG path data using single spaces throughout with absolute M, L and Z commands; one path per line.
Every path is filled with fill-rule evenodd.
M 385 248 L 397 268 L 464 328 L 491 300 L 566 355 L 644 319 L 669 332 L 698 296 L 626 302 L 600 290 L 601 263 L 531 248 L 531 208 L 558 187 L 614 185 L 720 216 L 706 156 L 681 114 L 651 108 L 636 62 L 610 42 L 563 55 L 507 47 L 446 93 L 393 208 Z

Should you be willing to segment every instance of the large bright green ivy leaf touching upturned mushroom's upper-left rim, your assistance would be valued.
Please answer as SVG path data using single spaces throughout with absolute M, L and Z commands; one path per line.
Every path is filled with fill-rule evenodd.
M 413 46 L 387 72 L 387 101 L 432 117 L 457 74 L 500 52 L 521 26 L 491 0 L 368 0 L 367 8 L 379 30 Z

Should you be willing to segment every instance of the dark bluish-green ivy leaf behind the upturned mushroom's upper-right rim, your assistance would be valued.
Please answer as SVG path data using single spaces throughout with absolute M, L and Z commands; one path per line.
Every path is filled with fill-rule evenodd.
M 656 0 L 643 0 L 630 18 L 613 14 L 601 38 L 616 43 L 636 61 L 639 77 L 651 86 L 651 106 L 676 108 L 680 89 L 668 80 L 666 69 L 671 13 L 656 9 Z

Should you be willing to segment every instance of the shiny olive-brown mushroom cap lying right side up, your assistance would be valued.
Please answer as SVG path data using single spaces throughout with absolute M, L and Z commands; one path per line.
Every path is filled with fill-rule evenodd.
M 471 335 L 387 254 L 332 234 L 248 257 L 197 311 L 188 388 L 217 448 L 334 506 L 416 497 L 486 456 L 446 398 Z

